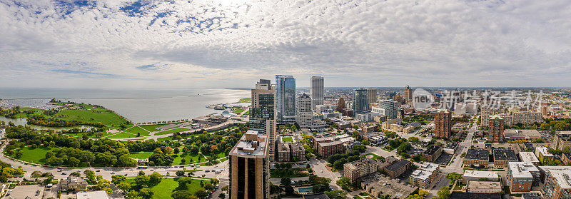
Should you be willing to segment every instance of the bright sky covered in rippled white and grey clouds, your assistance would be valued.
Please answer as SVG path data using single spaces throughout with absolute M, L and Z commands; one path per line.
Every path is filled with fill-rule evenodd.
M 571 86 L 569 0 L 0 0 L 0 87 Z

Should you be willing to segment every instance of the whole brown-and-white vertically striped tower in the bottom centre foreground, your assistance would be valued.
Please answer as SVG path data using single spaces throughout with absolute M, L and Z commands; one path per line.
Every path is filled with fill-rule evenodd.
M 248 130 L 232 148 L 228 188 L 231 199 L 266 199 L 270 195 L 268 136 Z

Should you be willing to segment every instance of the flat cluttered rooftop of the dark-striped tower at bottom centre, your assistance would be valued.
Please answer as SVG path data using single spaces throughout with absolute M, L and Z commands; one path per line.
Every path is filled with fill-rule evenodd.
M 248 130 L 230 151 L 230 155 L 268 155 L 268 136 L 258 135 L 258 131 Z

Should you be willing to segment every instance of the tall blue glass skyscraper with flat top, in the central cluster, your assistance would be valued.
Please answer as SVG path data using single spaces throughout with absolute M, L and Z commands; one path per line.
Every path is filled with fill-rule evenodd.
M 295 78 L 276 75 L 276 120 L 295 121 Z

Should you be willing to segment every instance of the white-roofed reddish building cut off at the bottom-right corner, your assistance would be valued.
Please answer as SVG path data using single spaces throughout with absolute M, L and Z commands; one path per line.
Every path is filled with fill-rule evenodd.
M 545 199 L 571 198 L 571 167 L 540 167 L 545 174 L 541 194 Z

